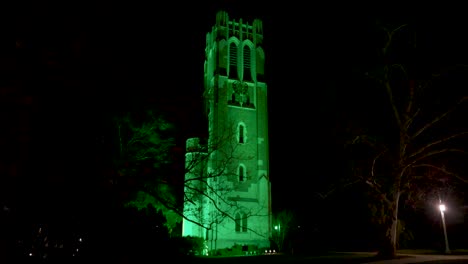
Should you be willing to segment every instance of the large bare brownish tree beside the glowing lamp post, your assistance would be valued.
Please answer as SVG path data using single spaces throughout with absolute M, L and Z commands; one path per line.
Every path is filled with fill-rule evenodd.
M 354 177 L 348 184 L 360 182 L 370 187 L 381 212 L 379 223 L 384 232 L 379 254 L 390 258 L 396 254 L 398 209 L 403 196 L 427 192 L 434 183 L 449 178 L 468 183 L 461 177 L 460 167 L 449 165 L 455 159 L 467 162 L 466 145 L 461 141 L 468 136 L 463 125 L 466 119 L 458 126 L 449 125 L 449 121 L 456 121 L 450 117 L 464 106 L 468 97 L 462 94 L 457 99 L 451 98 L 445 110 L 442 104 L 434 106 L 434 98 L 443 95 L 440 88 L 443 78 L 432 75 L 431 79 L 413 81 L 409 76 L 414 69 L 395 62 L 397 56 L 391 48 L 406 27 L 383 28 L 383 63 L 367 73 L 386 94 L 388 101 L 383 105 L 390 109 L 389 119 L 385 119 L 388 129 L 385 134 L 376 134 L 359 127 L 351 132 L 354 136 L 346 144 L 353 155 Z M 438 97 L 429 95 L 431 91 L 439 92 Z M 420 188 L 423 185 L 425 188 Z

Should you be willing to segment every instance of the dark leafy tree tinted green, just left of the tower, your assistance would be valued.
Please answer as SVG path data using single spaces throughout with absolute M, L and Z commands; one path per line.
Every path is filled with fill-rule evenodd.
M 114 117 L 117 130 L 117 157 L 115 181 L 123 181 L 128 195 L 122 203 L 126 207 L 145 209 L 151 205 L 166 217 L 172 231 L 180 222 L 177 198 L 177 175 L 174 162 L 175 127 L 164 115 L 154 110 L 126 113 Z

